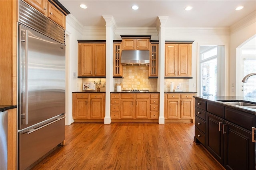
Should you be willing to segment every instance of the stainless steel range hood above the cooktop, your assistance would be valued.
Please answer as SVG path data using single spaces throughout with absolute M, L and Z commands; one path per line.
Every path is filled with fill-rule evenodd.
M 149 50 L 122 50 L 122 65 L 149 65 Z

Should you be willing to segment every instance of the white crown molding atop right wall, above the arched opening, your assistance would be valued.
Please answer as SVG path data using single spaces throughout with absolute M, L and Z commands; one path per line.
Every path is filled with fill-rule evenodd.
M 244 17 L 242 20 L 230 26 L 230 32 L 236 32 L 256 22 L 256 10 Z

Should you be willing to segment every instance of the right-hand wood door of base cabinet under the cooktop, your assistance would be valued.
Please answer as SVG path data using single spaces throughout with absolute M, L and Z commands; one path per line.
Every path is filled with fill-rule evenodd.
M 149 118 L 149 101 L 143 99 L 136 100 L 136 118 L 148 119 Z

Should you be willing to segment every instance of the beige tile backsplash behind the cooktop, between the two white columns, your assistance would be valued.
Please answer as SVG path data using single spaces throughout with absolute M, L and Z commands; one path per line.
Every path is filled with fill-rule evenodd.
M 157 90 L 157 79 L 148 78 L 148 66 L 123 66 L 122 79 L 115 79 L 116 84 L 121 84 L 122 90 Z

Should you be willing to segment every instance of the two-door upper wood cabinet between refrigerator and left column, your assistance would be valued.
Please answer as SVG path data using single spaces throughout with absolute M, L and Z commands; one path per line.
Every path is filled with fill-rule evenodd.
M 106 76 L 106 41 L 78 40 L 78 77 Z

